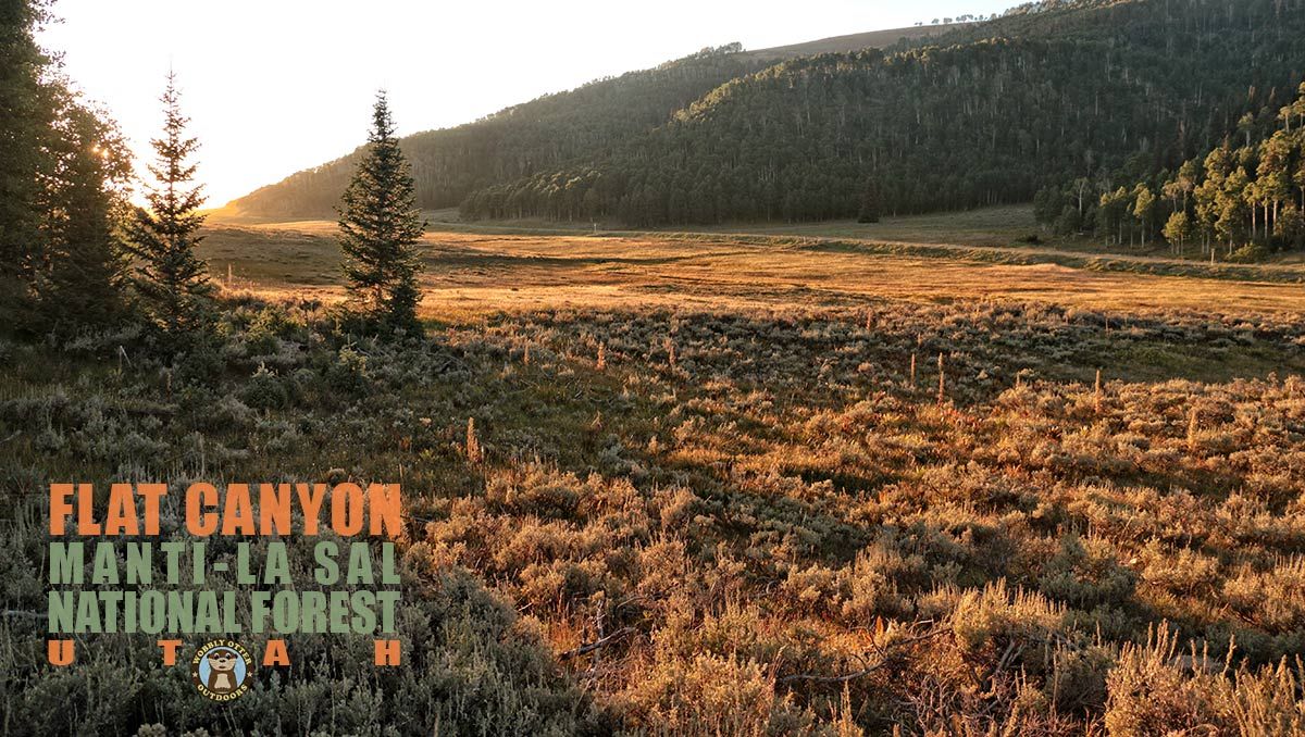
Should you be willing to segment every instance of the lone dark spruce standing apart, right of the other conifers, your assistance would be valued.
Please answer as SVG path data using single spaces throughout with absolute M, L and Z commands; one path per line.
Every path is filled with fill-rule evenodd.
M 425 223 L 416 207 L 416 187 L 394 137 L 385 93 L 376 97 L 367 151 L 345 190 L 339 209 L 339 244 L 350 303 L 364 318 L 412 329 L 420 261 L 416 243 Z

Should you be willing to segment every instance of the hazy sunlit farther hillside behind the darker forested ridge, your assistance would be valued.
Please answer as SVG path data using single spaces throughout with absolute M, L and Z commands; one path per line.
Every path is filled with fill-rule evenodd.
M 423 207 L 453 207 L 471 192 L 517 181 L 561 164 L 591 159 L 664 124 L 718 86 L 776 59 L 856 51 L 934 37 L 955 25 L 891 29 L 795 46 L 744 51 L 739 44 L 705 48 L 654 69 L 595 80 L 544 95 L 482 120 L 403 140 Z M 307 218 L 329 215 L 356 162 L 356 151 L 296 172 L 230 202 L 226 215 Z

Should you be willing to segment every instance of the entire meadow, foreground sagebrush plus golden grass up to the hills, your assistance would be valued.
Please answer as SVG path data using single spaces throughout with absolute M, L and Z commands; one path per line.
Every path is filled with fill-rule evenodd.
M 914 228 L 436 223 L 385 343 L 329 223 L 215 224 L 211 351 L 0 346 L 0 732 L 1305 733 L 1305 273 Z M 70 475 L 402 481 L 411 667 L 44 667 Z

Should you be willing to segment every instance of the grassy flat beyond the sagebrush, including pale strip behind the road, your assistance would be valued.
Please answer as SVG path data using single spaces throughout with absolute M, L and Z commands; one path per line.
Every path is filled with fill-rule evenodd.
M 595 233 L 539 223 L 433 219 L 423 247 L 423 312 L 445 320 L 539 308 L 855 307 L 886 299 L 1035 300 L 1126 310 L 1300 309 L 1305 265 L 1211 266 L 1000 245 L 1026 228 L 1002 232 L 996 223 L 1024 210 L 903 218 L 893 240 L 865 237 L 865 228 L 880 226 L 829 223 L 750 233 Z M 343 293 L 334 227 L 326 220 L 218 220 L 200 250 L 215 279 L 236 291 L 333 300 Z M 1167 275 L 1189 278 L 1154 278 Z

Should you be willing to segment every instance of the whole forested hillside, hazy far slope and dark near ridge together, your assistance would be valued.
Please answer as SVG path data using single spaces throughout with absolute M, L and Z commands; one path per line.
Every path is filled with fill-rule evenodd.
M 419 203 L 634 226 L 1027 202 L 1176 168 L 1289 102 L 1305 0 L 1065 0 L 775 63 L 737 44 L 405 140 Z M 800 48 L 800 47 L 796 47 Z M 232 203 L 330 213 L 351 158 Z M 1095 200 L 1095 194 L 1094 194 Z

